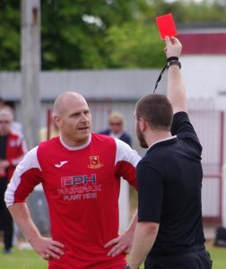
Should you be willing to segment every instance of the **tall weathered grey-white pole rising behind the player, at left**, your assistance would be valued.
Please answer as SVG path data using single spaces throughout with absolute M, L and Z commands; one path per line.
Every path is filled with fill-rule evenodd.
M 39 143 L 40 1 L 22 0 L 22 126 L 29 149 Z

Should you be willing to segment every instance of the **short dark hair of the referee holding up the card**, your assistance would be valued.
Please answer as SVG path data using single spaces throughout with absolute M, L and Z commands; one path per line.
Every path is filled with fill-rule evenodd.
M 164 95 L 149 94 L 137 101 L 135 116 L 143 117 L 152 129 L 170 131 L 173 109 Z

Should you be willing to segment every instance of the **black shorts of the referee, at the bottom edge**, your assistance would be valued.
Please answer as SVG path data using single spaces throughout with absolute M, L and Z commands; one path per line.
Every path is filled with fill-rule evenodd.
M 212 269 L 212 260 L 204 247 L 193 247 L 178 255 L 148 257 L 144 269 Z

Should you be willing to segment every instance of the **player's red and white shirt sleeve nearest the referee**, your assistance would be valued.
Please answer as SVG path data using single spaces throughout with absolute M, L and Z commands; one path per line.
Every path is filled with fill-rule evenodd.
M 141 157 L 135 150 L 125 142 L 115 138 L 117 144 L 116 152 L 116 177 L 125 178 L 130 185 L 136 187 L 136 165 L 141 160 Z

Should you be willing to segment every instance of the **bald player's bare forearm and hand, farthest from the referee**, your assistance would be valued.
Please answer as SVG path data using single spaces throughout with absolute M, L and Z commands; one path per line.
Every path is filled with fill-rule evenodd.
M 29 209 L 25 203 L 16 203 L 9 206 L 9 211 L 16 221 L 22 234 L 29 241 L 31 247 L 42 256 L 48 259 L 48 256 L 59 259 L 64 254 L 63 244 L 52 239 L 44 238 L 30 218 Z

